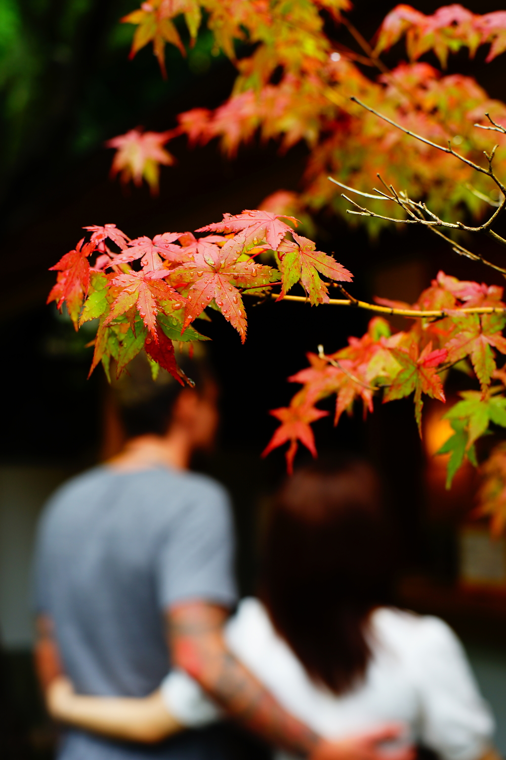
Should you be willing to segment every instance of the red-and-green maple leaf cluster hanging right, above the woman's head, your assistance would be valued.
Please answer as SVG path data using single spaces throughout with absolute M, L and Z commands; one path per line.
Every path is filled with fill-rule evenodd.
M 439 272 L 413 306 L 376 299 L 392 308 L 404 307 L 421 312 L 438 310 L 445 315 L 416 319 L 409 331 L 394 334 L 391 334 L 388 321 L 375 317 L 363 337 L 350 337 L 347 347 L 336 353 L 325 355 L 322 348 L 319 354 L 308 353 L 310 366 L 289 378 L 303 388 L 294 395 L 289 407 L 272 411 L 281 426 L 264 453 L 289 442 L 289 470 L 298 442 L 316 455 L 310 423 L 327 415 L 316 404 L 332 394 L 336 394 L 337 424 L 344 411 L 350 413 L 353 410 L 357 399 L 362 401 L 365 414 L 368 410 L 372 412 L 374 394 L 382 393 L 383 401 L 388 402 L 409 396 L 414 391 L 415 417 L 421 435 L 423 394 L 445 401 L 443 379 L 448 369 L 455 366 L 474 373 L 481 390 L 464 391 L 463 401 L 446 414 L 454 435 L 440 453 L 451 454 L 448 461 L 450 485 L 464 458 L 476 464 L 474 443 L 486 432 L 489 423 L 506 427 L 506 398 L 501 395 L 506 373 L 496 366 L 496 352 L 506 354 L 506 338 L 502 335 L 506 314 L 459 312 L 463 307 L 473 306 L 502 309 L 502 295 L 501 287 L 460 281 Z M 495 379 L 501 385 L 491 385 Z

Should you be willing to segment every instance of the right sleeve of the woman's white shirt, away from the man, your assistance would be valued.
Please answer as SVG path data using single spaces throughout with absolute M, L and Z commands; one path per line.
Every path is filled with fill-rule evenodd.
M 421 633 L 413 663 L 420 738 L 444 760 L 477 760 L 490 746 L 495 726 L 464 648 L 437 618 L 426 618 Z

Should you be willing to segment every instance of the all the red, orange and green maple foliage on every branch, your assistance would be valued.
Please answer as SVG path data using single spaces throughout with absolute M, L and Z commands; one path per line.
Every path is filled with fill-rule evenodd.
M 102 362 L 109 378 L 111 372 L 120 375 L 144 350 L 154 375 L 162 366 L 184 383 L 188 378 L 177 366 L 174 342 L 206 340 L 193 325 L 197 318 L 208 318 L 206 309 L 222 312 L 244 341 L 245 295 L 283 299 L 300 283 L 311 304 L 328 302 L 327 280 L 347 282 L 352 276 L 298 235 L 291 216 L 297 214 L 309 230 L 305 210 L 344 211 L 328 173 L 366 195 L 370 178 L 381 173 L 393 185 L 410 188 L 412 198 L 423 198 L 431 218 L 434 212 L 458 216 L 467 207 L 480 214 L 483 204 L 498 206 L 500 195 L 495 186 L 491 191 L 490 176 L 476 176 L 466 160 L 456 163 L 423 140 L 407 141 L 401 130 L 420 133 L 432 144 L 457 146 L 476 163 L 489 141 L 486 130 L 473 124 L 490 129 L 492 123 L 499 127 L 495 156 L 504 159 L 504 103 L 490 100 L 473 78 L 445 76 L 419 59 L 433 51 L 444 69 L 450 52 L 465 46 L 474 55 L 483 44 L 490 46 L 487 61 L 494 59 L 506 50 L 506 11 L 479 15 L 449 5 L 425 15 L 398 5 L 369 44 L 347 21 L 350 8 L 349 0 L 148 0 L 124 17 L 137 26 L 130 55 L 152 43 L 165 74 L 166 43 L 186 54 L 178 17 L 184 16 L 192 44 L 205 11 L 216 51 L 228 55 L 238 75 L 231 97 L 217 109 L 195 108 L 180 114 L 174 129 L 137 128 L 109 141 L 117 150 L 112 172 L 122 181 L 140 185 L 145 179 L 156 192 L 159 166 L 174 163 L 165 145 L 178 135 L 187 135 L 193 145 L 219 138 L 229 156 L 258 134 L 277 140 L 283 150 L 306 141 L 310 157 L 303 192 L 275 193 L 263 202 L 266 211 L 225 214 L 222 222 L 196 230 L 210 233 L 200 238 L 163 233 L 130 240 L 113 224 L 86 227 L 90 234 L 53 268 L 58 280 L 49 301 L 58 308 L 65 303 L 76 328 L 98 321 L 91 371 Z M 332 28 L 341 25 L 360 44 L 360 54 L 335 40 Z M 380 55 L 403 37 L 410 61 L 388 69 Z M 387 118 L 378 119 L 375 110 Z M 483 122 L 485 113 L 492 122 Z M 382 216 L 384 199 L 368 198 L 370 211 Z M 401 204 L 396 213 L 402 214 Z M 369 217 L 369 224 L 385 223 L 387 217 Z M 302 388 L 289 407 L 272 411 L 281 424 L 264 454 L 288 443 L 288 470 L 300 442 L 316 455 L 311 423 L 328 414 L 317 404 L 333 394 L 335 424 L 357 400 L 365 414 L 375 395 L 388 402 L 413 394 L 421 434 L 423 395 L 445 401 L 449 370 L 462 369 L 476 376 L 480 389 L 464 391 L 446 414 L 453 435 L 439 453 L 448 454 L 449 486 L 464 460 L 476 465 L 476 440 L 491 425 L 506 427 L 506 372 L 496 364 L 506 354 L 502 298 L 499 287 L 440 272 L 413 306 L 377 299 L 385 308 L 438 316 L 420 315 L 409 330 L 394 334 L 384 318 L 376 317 L 363 337 L 350 337 L 347 347 L 330 355 L 319 347 L 319 353 L 308 354 L 310 366 L 290 378 Z M 492 515 L 492 529 L 498 532 L 506 524 L 506 444 L 495 449 L 482 473 L 479 508 Z

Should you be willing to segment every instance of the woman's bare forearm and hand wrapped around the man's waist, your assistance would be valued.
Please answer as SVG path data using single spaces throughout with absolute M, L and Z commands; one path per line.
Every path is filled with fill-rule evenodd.
M 132 742 L 159 742 L 184 728 L 169 714 L 159 690 L 143 698 L 85 696 L 60 676 L 46 691 L 46 705 L 55 720 Z

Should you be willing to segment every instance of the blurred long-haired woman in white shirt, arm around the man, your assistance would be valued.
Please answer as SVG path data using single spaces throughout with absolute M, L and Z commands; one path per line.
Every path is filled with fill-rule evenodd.
M 275 499 L 260 600 L 226 626 L 230 651 L 284 708 L 329 739 L 401 723 L 442 760 L 498 760 L 494 722 L 464 650 L 441 619 L 391 606 L 393 563 L 379 483 L 361 462 L 298 471 Z M 172 672 L 145 700 L 48 693 L 60 720 L 116 736 L 206 724 L 219 711 Z M 279 757 L 286 758 L 281 753 Z

